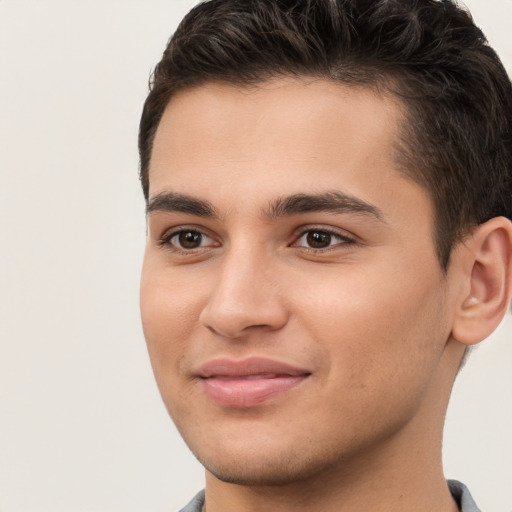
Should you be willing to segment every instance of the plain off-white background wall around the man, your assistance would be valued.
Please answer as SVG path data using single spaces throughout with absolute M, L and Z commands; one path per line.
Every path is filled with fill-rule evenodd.
M 147 77 L 191 0 L 0 0 L 0 510 L 172 511 L 202 471 L 138 318 Z M 468 1 L 512 69 L 511 0 Z M 512 322 L 474 354 L 446 473 L 512 511 Z

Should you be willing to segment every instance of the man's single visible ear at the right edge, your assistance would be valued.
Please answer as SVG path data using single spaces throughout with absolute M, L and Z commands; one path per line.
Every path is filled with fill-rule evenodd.
M 487 338 L 505 316 L 512 296 L 512 223 L 495 217 L 464 241 L 466 280 L 452 335 L 465 345 Z

